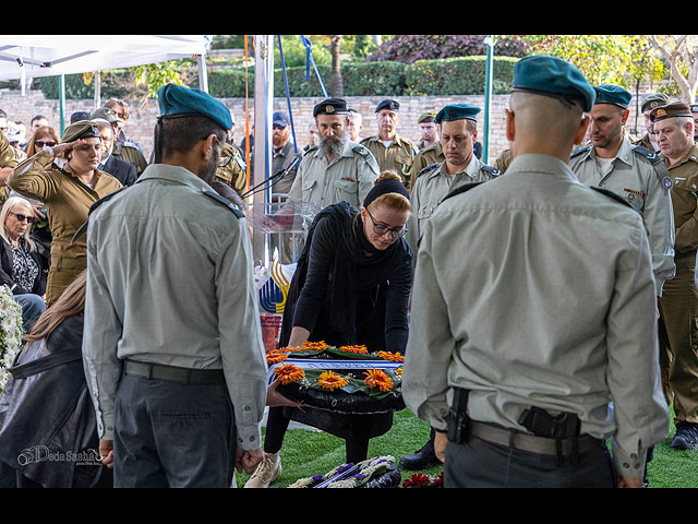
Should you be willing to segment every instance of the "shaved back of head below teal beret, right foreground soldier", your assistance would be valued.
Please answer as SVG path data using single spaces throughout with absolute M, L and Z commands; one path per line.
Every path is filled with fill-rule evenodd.
M 514 92 L 507 111 L 507 138 L 514 156 L 541 153 L 569 162 L 575 144 L 581 142 L 589 118 L 580 105 L 565 107 L 557 98 Z

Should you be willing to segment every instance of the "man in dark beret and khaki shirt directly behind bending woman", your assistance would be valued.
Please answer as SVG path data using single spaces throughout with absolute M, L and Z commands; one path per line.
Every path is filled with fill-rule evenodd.
M 411 140 L 398 134 L 399 110 L 400 104 L 396 100 L 381 102 L 375 108 L 378 134 L 363 139 L 361 144 L 373 153 L 381 172 L 394 170 L 402 176 L 405 184 L 409 187 L 412 162 L 419 150 Z

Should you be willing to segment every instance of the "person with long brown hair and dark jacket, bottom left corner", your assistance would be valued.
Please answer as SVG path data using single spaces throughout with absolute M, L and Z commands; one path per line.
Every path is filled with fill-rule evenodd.
M 82 360 L 86 274 L 24 336 L 27 346 L 10 368 L 0 396 L 0 487 L 113 485 Z

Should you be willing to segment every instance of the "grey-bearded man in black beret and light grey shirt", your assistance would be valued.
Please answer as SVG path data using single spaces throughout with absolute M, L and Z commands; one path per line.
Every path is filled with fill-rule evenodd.
M 321 142 L 303 155 L 288 202 L 360 206 L 378 177 L 378 165 L 366 147 L 349 140 L 347 103 L 326 98 L 313 108 L 313 117 Z

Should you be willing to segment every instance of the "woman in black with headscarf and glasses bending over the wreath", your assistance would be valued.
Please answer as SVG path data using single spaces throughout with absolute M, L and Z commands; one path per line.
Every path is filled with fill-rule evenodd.
M 404 238 L 409 213 L 400 177 L 386 171 L 361 210 L 339 202 L 315 216 L 286 299 L 281 347 L 325 341 L 405 354 L 412 285 L 412 252 Z M 245 487 L 268 487 L 281 474 L 279 451 L 291 419 L 345 439 L 347 463 L 356 464 L 366 458 L 369 440 L 390 429 L 393 413 L 270 407 L 264 458 Z

